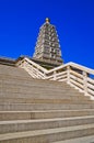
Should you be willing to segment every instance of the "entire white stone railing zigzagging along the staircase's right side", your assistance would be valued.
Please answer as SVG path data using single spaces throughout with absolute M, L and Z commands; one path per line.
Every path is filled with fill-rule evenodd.
M 94 97 L 93 69 L 79 64 L 68 63 L 47 70 L 26 57 L 17 62 L 17 66 L 24 68 L 33 78 L 66 81 L 84 92 L 85 96 Z

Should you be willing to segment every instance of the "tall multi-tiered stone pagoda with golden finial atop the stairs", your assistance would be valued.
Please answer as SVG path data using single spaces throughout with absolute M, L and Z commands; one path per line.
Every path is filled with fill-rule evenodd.
M 40 26 L 37 37 L 35 59 L 45 63 L 60 65 L 62 64 L 60 44 L 55 25 L 50 24 L 49 19 Z

